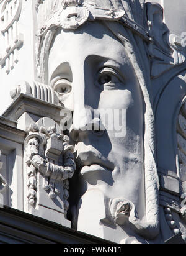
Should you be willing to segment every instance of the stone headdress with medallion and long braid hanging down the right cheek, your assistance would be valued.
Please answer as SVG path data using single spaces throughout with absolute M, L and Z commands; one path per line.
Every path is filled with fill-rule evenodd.
M 38 0 L 40 30 L 37 33 L 37 66 L 38 75 L 42 77 L 44 83 L 47 83 L 47 52 L 58 27 L 72 30 L 86 21 L 100 20 L 124 45 L 135 69 L 144 99 L 146 221 L 141 221 L 135 211 L 130 214 L 129 221 L 138 234 L 154 238 L 159 232 L 159 181 L 155 160 L 150 65 L 146 51 L 146 43 L 151 42 L 151 38 L 144 29 L 144 8 L 144 0 Z

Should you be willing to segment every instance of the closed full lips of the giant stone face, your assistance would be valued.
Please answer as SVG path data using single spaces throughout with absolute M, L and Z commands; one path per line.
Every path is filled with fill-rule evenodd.
M 78 153 L 78 167 L 81 169 L 81 175 L 94 171 L 112 171 L 113 163 L 103 157 L 100 152 L 92 147 L 90 150 Z

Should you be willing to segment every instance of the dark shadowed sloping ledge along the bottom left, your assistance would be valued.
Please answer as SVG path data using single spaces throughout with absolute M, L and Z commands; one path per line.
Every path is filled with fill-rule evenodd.
M 2 241 L 1 237 L 4 237 Z M 18 240 L 21 244 L 110 244 L 111 242 L 84 234 L 40 217 L 4 207 L 0 209 L 0 242 Z

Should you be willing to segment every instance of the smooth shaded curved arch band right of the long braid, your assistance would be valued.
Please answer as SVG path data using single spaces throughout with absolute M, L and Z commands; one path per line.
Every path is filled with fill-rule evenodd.
M 173 78 L 156 106 L 157 166 L 177 173 L 177 117 L 186 95 L 186 71 Z M 171 127 L 171 129 L 169 129 Z

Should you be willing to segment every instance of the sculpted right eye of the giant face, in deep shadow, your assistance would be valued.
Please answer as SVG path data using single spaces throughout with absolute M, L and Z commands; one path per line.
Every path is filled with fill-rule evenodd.
M 113 68 L 103 68 L 99 72 L 99 85 L 114 86 L 121 82 L 122 78 L 120 77 L 117 71 L 113 70 Z

